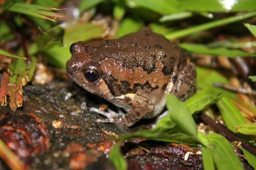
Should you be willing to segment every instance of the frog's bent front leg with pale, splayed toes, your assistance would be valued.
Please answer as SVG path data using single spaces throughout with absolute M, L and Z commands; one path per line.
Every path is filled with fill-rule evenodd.
M 146 114 L 154 110 L 152 103 L 150 103 L 146 98 L 135 93 L 128 93 L 125 95 L 117 96 L 115 97 L 115 101 L 122 103 L 122 105 L 125 106 L 131 106 L 132 108 L 128 111 L 128 113 L 123 115 L 113 111 L 105 112 L 93 109 L 93 111 L 96 111 L 107 117 L 107 119 L 97 119 L 97 122 L 109 122 L 130 127 L 138 120 L 142 119 Z

